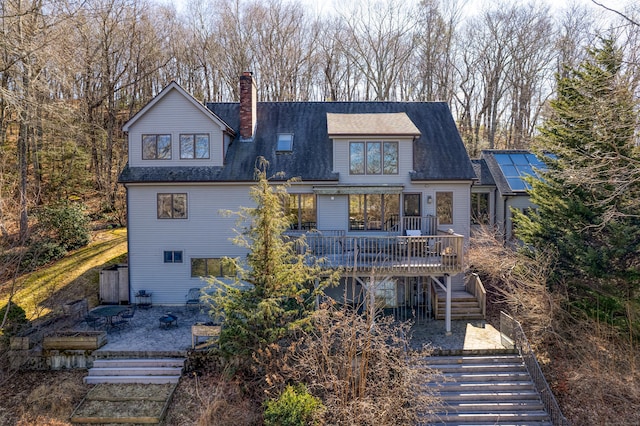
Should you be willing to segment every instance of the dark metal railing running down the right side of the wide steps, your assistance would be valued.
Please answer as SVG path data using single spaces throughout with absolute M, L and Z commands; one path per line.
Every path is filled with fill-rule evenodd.
M 513 347 L 520 353 L 554 426 L 570 426 L 569 421 L 562 414 L 562 410 L 560 410 L 560 406 L 553 396 L 553 392 L 551 392 L 549 383 L 547 383 L 544 374 L 542 374 L 542 369 L 540 368 L 540 364 L 538 364 L 536 354 L 533 352 L 533 349 L 531 349 L 531 345 L 529 345 L 522 326 L 517 320 L 504 312 L 500 312 L 500 338 L 505 347 Z

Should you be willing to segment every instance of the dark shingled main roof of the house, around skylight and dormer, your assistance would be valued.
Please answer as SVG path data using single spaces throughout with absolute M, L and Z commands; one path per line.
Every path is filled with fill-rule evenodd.
M 209 103 L 207 107 L 231 129 L 240 126 L 239 103 Z M 404 113 L 417 128 L 412 180 L 472 180 L 476 177 L 443 102 L 259 102 L 253 140 L 236 137 L 222 167 L 125 168 L 121 182 L 239 182 L 254 180 L 256 158 L 269 161 L 269 174 L 283 179 L 337 181 L 333 171 L 333 144 L 327 114 Z M 277 152 L 279 133 L 293 134 L 293 150 Z M 419 134 L 419 136 L 417 136 Z

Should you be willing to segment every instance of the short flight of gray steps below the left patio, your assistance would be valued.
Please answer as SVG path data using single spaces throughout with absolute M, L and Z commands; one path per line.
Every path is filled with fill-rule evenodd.
M 184 361 L 184 358 L 96 359 L 84 382 L 177 383 L 182 375 Z

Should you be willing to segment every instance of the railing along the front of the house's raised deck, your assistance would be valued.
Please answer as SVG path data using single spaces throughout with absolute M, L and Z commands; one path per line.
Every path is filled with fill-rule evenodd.
M 297 239 L 298 251 L 306 250 L 326 268 L 375 268 L 380 272 L 416 275 L 463 270 L 462 235 L 345 236 L 340 232 L 317 231 L 305 233 L 304 237 L 304 243 Z

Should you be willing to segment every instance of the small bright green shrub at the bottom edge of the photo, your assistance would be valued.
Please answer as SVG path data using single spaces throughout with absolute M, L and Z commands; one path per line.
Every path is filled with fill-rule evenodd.
M 323 408 L 320 400 L 307 388 L 298 384 L 287 385 L 275 400 L 265 402 L 264 424 L 266 426 L 305 426 L 317 424 L 316 413 Z

